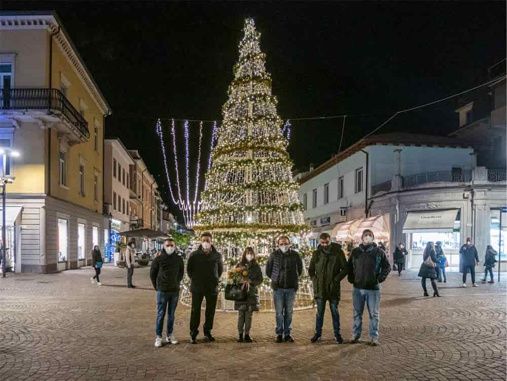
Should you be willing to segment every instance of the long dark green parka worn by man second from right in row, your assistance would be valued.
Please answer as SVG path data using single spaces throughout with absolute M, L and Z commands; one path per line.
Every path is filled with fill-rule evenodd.
M 342 247 L 331 243 L 331 252 L 319 245 L 313 252 L 308 274 L 313 282 L 315 299 L 340 300 L 340 282 L 347 276 L 348 266 Z

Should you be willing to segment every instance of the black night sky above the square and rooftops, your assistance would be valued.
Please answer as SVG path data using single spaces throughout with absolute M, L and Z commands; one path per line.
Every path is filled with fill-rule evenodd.
M 222 118 L 245 17 L 254 17 L 262 33 L 282 119 L 361 115 L 346 119 L 343 148 L 397 110 L 486 82 L 487 68 L 506 56 L 505 2 L 4 1 L 1 7 L 58 13 L 113 108 L 106 137 L 140 151 L 168 205 L 156 118 Z M 377 133 L 447 134 L 457 127 L 457 101 L 396 117 Z M 204 123 L 206 146 L 211 126 Z M 170 122 L 163 127 L 169 137 Z M 183 123 L 176 127 L 181 132 Z M 288 150 L 295 166 L 336 154 L 341 127 L 342 119 L 293 121 Z M 196 151 L 197 122 L 190 134 Z

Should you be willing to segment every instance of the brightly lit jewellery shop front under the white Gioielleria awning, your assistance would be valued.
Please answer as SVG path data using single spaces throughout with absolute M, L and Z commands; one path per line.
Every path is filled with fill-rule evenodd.
M 411 211 L 403 225 L 409 251 L 408 268 L 417 269 L 429 241 L 442 242 L 442 249 L 451 271 L 459 270 L 461 246 L 460 210 Z

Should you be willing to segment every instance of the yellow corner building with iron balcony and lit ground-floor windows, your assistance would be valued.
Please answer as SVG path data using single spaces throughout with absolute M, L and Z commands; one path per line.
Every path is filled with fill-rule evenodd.
M 0 141 L 9 162 L 11 270 L 55 272 L 104 249 L 104 121 L 111 108 L 52 13 L 0 16 Z M 2 140 L 4 138 L 4 140 Z

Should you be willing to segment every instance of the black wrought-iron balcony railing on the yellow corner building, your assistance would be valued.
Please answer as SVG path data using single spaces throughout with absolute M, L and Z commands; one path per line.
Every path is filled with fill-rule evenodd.
M 2 89 L 2 110 L 57 110 L 88 139 L 88 122 L 58 89 Z

